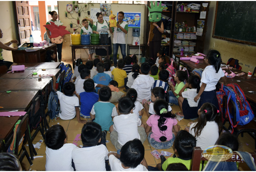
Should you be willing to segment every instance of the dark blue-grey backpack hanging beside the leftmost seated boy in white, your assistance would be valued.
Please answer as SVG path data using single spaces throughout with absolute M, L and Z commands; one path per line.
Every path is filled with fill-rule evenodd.
M 51 81 L 52 82 L 52 81 Z M 52 89 L 48 98 L 48 115 L 50 119 L 54 119 L 60 112 L 60 104 L 57 93 Z

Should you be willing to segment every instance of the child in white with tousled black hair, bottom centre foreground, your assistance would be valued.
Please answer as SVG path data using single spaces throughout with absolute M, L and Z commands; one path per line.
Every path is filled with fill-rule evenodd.
M 108 154 L 112 171 L 147 171 L 145 149 L 139 139 L 135 138 L 125 143 L 120 154 L 114 152 Z

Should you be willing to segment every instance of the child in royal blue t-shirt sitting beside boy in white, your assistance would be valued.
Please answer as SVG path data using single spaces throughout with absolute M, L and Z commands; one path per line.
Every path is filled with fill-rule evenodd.
M 81 105 L 81 114 L 83 118 L 90 118 L 90 112 L 93 105 L 99 100 L 99 95 L 94 93 L 94 82 L 91 78 L 84 81 L 84 92 L 80 93 L 79 100 Z

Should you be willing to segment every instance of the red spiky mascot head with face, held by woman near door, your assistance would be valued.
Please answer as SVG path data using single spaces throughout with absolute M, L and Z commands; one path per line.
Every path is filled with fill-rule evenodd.
M 62 36 L 70 34 L 69 31 L 65 30 L 66 26 L 62 26 L 63 23 L 59 21 L 50 22 L 51 25 L 43 25 L 50 30 L 52 35 L 50 36 L 52 43 L 61 44 L 63 42 Z

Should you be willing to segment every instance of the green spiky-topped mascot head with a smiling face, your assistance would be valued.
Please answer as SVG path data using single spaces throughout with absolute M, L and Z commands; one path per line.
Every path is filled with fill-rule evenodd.
M 161 13 L 164 9 L 162 7 L 162 1 L 160 1 L 159 5 L 157 6 L 157 1 L 155 1 L 155 6 L 153 5 L 153 2 L 151 1 L 151 8 L 148 7 L 149 10 L 149 17 L 148 20 L 150 22 L 159 22 L 161 20 Z

